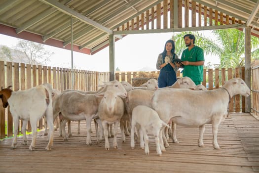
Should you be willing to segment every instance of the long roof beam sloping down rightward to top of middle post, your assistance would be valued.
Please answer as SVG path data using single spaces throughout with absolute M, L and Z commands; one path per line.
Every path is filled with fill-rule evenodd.
M 84 15 L 72 10 L 68 6 L 61 4 L 56 0 L 40 0 L 40 1 L 42 1 L 43 3 L 49 4 L 50 6 L 53 6 L 53 7 L 57 8 L 58 10 L 66 13 L 70 16 L 73 16 L 73 17 L 77 18 L 84 23 L 92 25 L 95 28 L 98 28 L 99 30 L 102 30 L 102 31 L 104 31 L 108 34 L 112 34 L 112 30 L 110 30 L 109 28 L 107 28 L 107 27 L 105 27 L 105 26 L 85 17 Z

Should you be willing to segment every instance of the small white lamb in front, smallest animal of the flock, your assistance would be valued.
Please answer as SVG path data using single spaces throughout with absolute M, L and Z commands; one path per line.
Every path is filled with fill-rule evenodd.
M 140 125 L 140 146 L 144 149 L 143 135 L 145 139 L 145 153 L 149 155 L 148 148 L 148 134 L 147 131 L 152 133 L 155 138 L 156 143 L 156 152 L 159 156 L 162 155 L 162 151 L 165 151 L 162 132 L 164 127 L 169 127 L 164 123 L 158 116 L 158 114 L 148 106 L 139 105 L 136 106 L 132 111 L 132 120 L 131 120 L 131 148 L 134 149 L 134 129 L 136 124 Z

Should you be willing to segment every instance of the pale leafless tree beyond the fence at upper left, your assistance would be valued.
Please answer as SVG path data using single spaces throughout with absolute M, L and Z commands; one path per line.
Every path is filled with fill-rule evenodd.
M 26 40 L 20 40 L 16 44 L 16 48 L 25 53 L 29 64 L 34 65 L 46 64 L 46 62 L 50 61 L 50 56 L 54 54 L 54 52 L 46 50 L 43 44 Z

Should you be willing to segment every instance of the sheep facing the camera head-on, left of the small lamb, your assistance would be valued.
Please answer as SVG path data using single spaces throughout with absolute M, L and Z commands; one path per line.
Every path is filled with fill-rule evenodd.
M 104 93 L 104 97 L 102 98 L 98 108 L 98 116 L 102 121 L 103 129 L 104 129 L 106 150 L 110 149 L 107 124 L 114 123 L 113 147 L 117 149 L 118 148 L 118 145 L 117 145 L 118 125 L 123 114 L 124 114 L 123 100 L 119 96 L 117 96 L 117 93 L 115 91 L 112 91 L 112 90 L 106 91 Z M 121 131 L 121 133 L 123 135 L 124 131 Z

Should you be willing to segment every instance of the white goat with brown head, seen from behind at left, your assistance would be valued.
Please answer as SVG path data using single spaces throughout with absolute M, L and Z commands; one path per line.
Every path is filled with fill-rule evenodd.
M 12 149 L 16 148 L 17 133 L 19 127 L 19 119 L 23 120 L 22 133 L 23 144 L 27 145 L 26 126 L 30 120 L 33 138 L 29 147 L 30 150 L 35 150 L 37 138 L 37 122 L 45 114 L 49 126 L 49 142 L 46 150 L 51 150 L 53 145 L 53 113 L 52 113 L 52 91 L 46 85 L 39 85 L 27 90 L 12 91 L 9 86 L 1 88 L 0 98 L 2 99 L 3 107 L 6 108 L 9 104 L 10 112 L 13 116 L 14 123 L 14 138 L 11 145 Z

